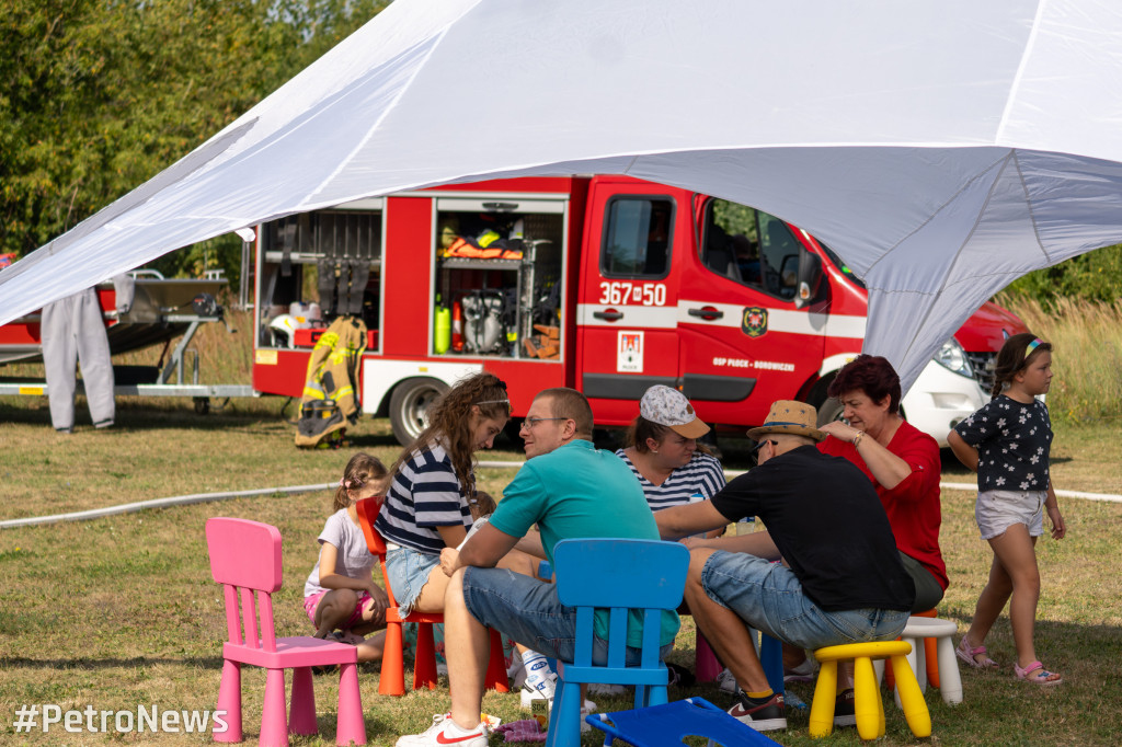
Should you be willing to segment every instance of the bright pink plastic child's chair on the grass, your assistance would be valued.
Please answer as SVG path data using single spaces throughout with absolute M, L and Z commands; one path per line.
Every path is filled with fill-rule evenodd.
M 312 666 L 338 664 L 335 744 L 365 745 L 366 722 L 358 690 L 358 653 L 355 646 L 310 636 L 277 638 L 274 631 L 272 594 L 280 589 L 282 582 L 280 532 L 260 522 L 212 518 L 206 522 L 206 548 L 211 575 L 224 587 L 226 625 L 230 636 L 222 645 L 222 684 L 218 691 L 218 710 L 227 712 L 229 728 L 224 732 L 215 732 L 214 741 L 242 739 L 242 664 L 268 670 L 260 735 L 260 744 L 268 747 L 287 746 L 289 731 L 316 734 Z M 288 668 L 294 670 L 291 719 L 286 718 L 284 698 L 284 671 Z

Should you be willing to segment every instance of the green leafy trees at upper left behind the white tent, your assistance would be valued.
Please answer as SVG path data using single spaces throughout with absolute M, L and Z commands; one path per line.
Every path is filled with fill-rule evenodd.
M 369 20 L 375 0 L 12 0 L 0 17 L 0 253 L 140 185 Z M 237 277 L 217 240 L 158 260 Z

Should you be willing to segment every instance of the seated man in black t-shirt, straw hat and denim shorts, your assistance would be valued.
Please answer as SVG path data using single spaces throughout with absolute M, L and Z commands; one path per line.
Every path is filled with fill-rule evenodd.
M 817 413 L 800 402 L 772 405 L 748 431 L 760 465 L 711 500 L 655 514 L 664 538 L 758 516 L 783 563 L 749 554 L 753 535 L 695 548 L 686 601 L 698 628 L 744 691 L 729 713 L 763 731 L 787 727 L 783 697 L 764 676 L 745 625 L 802 648 L 891 640 L 916 596 L 884 508 L 859 469 L 822 454 Z

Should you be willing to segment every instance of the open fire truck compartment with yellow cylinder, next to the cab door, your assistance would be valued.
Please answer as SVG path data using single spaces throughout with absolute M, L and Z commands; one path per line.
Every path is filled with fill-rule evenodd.
M 567 202 L 512 195 L 435 203 L 431 352 L 560 359 Z

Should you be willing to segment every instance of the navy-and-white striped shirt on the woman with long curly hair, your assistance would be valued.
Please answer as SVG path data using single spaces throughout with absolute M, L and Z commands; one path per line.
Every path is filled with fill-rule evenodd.
M 374 526 L 386 540 L 439 555 L 444 540 L 438 526 L 471 526 L 471 510 L 448 452 L 439 443 L 414 451 L 402 462 Z

